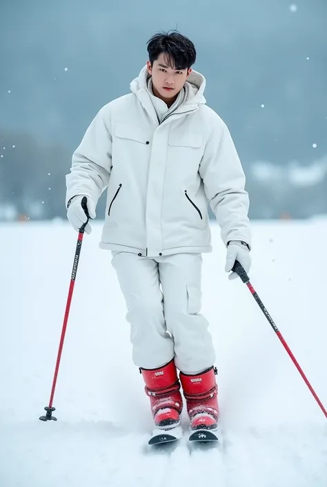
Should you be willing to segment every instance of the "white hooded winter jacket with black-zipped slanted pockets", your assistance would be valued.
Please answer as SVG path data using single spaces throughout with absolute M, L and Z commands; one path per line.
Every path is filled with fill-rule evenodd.
M 108 188 L 99 247 L 142 256 L 209 252 L 208 202 L 221 238 L 251 245 L 245 176 L 228 128 L 192 71 L 184 102 L 159 124 L 146 67 L 101 108 L 72 156 L 66 204 Z

